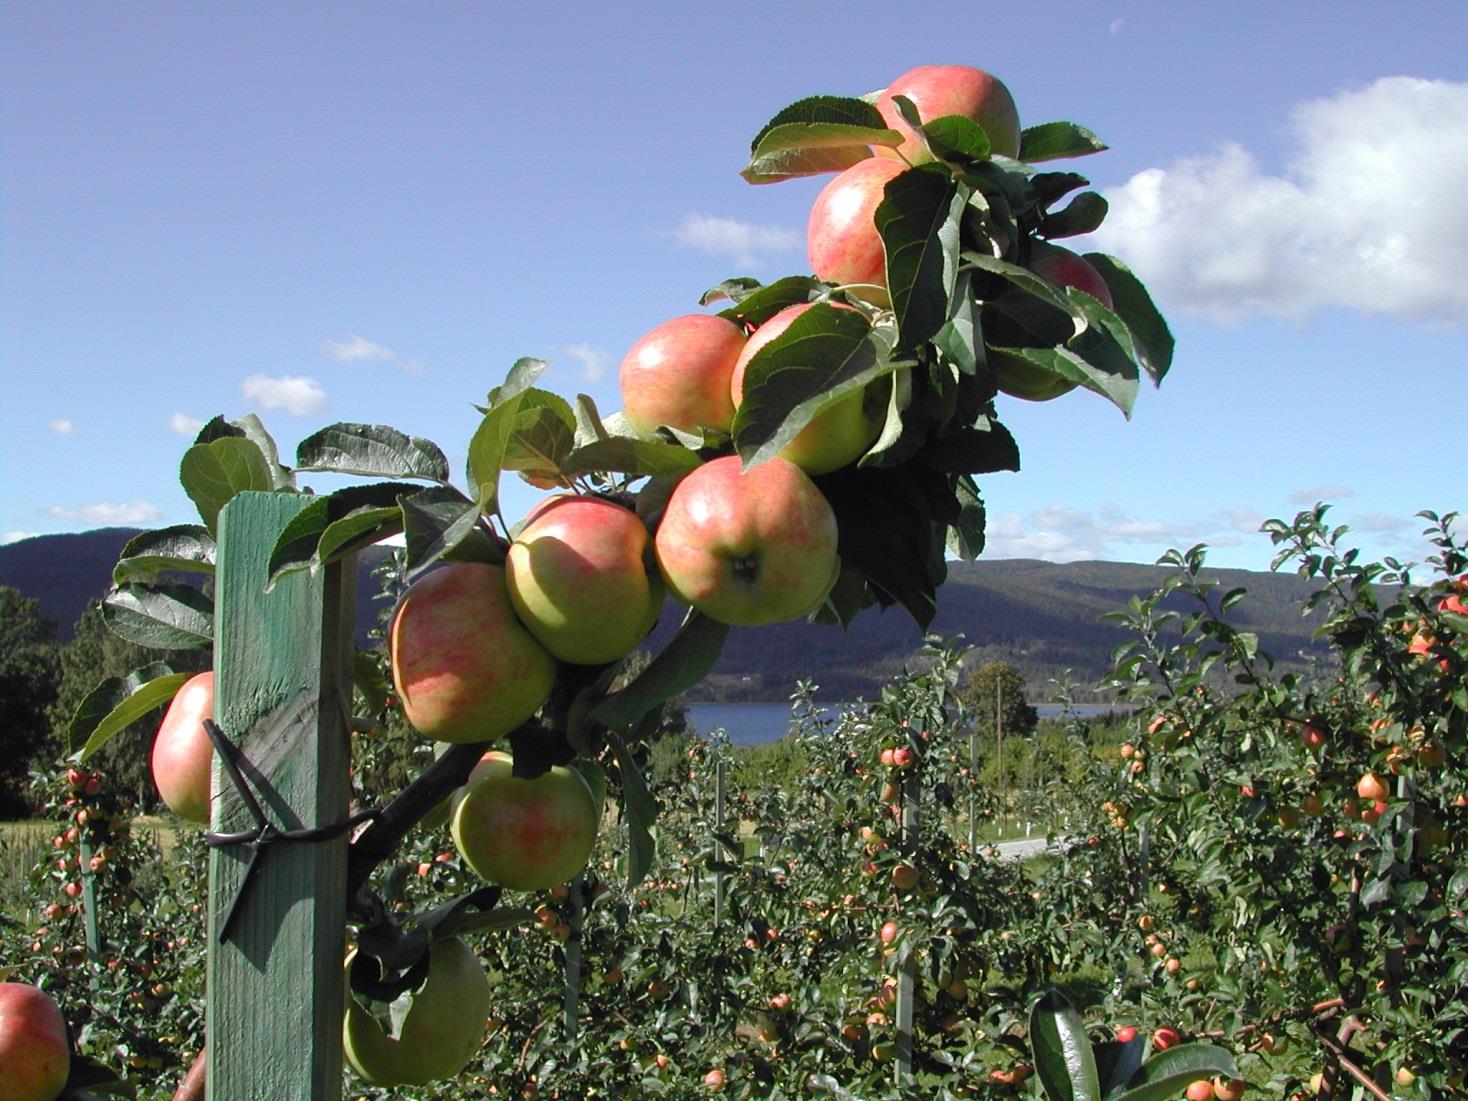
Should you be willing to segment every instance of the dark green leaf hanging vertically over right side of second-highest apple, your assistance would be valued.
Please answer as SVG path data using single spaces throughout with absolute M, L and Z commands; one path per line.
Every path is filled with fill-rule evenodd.
M 948 319 L 967 201 L 967 188 L 942 169 L 913 169 L 887 184 L 875 220 L 887 252 L 900 352 L 926 344 Z

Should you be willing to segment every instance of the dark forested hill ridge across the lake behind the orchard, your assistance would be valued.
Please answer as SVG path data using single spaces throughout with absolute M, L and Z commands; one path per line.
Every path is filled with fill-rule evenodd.
M 134 534 L 103 528 L 0 546 L 0 584 L 38 599 L 65 640 L 87 602 L 106 592 L 117 552 Z M 376 555 L 364 558 L 367 564 L 377 561 Z M 964 636 L 978 659 L 1013 662 L 1038 697 L 1048 678 L 1067 669 L 1085 686 L 1100 680 L 1111 649 L 1123 640 L 1101 617 L 1123 608 L 1133 595 L 1151 592 L 1166 575 L 1160 567 L 1126 562 L 954 562 L 931 630 Z M 1226 587 L 1249 590 L 1233 618 L 1260 636 L 1262 649 L 1290 665 L 1301 664 L 1302 653 L 1317 652 L 1309 639 L 1314 619 L 1302 619 L 1298 611 L 1309 593 L 1305 581 L 1293 574 L 1242 570 L 1220 570 L 1216 577 Z M 360 600 L 367 602 L 373 589 L 364 568 Z M 672 633 L 677 618 L 674 608 L 665 612 L 653 633 L 655 647 Z M 358 619 L 363 630 L 373 622 L 370 612 Z M 849 631 L 803 622 L 735 630 L 699 694 L 781 700 L 799 678 L 813 680 L 822 696 L 832 699 L 869 694 L 920 644 L 922 633 L 895 608 L 871 609 Z

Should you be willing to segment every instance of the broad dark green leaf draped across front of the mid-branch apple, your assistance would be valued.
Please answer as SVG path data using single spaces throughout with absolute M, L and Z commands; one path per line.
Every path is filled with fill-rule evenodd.
M 734 414 L 734 446 L 746 467 L 772 458 L 843 398 L 904 366 L 878 348 L 854 310 L 818 302 L 755 354 Z

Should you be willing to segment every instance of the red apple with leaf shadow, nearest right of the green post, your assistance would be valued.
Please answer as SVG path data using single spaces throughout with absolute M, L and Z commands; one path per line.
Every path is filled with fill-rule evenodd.
M 402 713 L 435 741 L 493 741 L 555 686 L 555 659 L 515 617 L 504 568 L 486 562 L 449 562 L 414 581 L 389 649 Z

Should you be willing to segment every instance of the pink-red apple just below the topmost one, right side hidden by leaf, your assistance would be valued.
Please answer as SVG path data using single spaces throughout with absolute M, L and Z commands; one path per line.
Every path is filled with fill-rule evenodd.
M 887 184 L 906 170 L 901 161 L 872 157 L 821 188 L 806 223 L 806 254 L 816 279 L 853 288 L 873 305 L 891 305 L 876 207 L 887 197 Z

